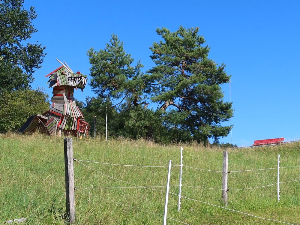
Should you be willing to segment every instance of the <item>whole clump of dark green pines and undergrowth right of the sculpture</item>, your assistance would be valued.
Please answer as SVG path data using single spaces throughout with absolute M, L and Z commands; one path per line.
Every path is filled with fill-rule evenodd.
M 209 138 L 218 142 L 227 136 L 232 127 L 221 124 L 232 117 L 233 110 L 232 103 L 223 101 L 220 85 L 228 83 L 230 76 L 224 64 L 218 66 L 208 58 L 209 48 L 202 46 L 205 41 L 198 31 L 157 29 L 163 40 L 150 47 L 156 66 L 147 74 L 140 71 L 140 61 L 132 65 L 134 59 L 117 35 L 112 35 L 105 49 L 89 49 L 91 86 L 98 94 L 87 99 L 90 124 L 94 124 L 91 114 L 102 116 L 97 120 L 103 132 L 105 115 L 100 112 L 107 106 L 110 136 L 162 143 L 207 143 Z M 156 111 L 148 109 L 150 100 L 158 105 Z

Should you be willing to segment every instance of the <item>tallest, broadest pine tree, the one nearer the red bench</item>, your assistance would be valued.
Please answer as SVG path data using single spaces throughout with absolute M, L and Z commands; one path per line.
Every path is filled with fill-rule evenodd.
M 165 113 L 174 138 L 217 142 L 232 128 L 221 125 L 233 115 L 232 103 L 223 101 L 220 87 L 230 76 L 224 64 L 218 66 L 208 58 L 209 47 L 203 46 L 205 40 L 198 31 L 198 27 L 182 26 L 176 32 L 156 30 L 163 40 L 150 47 L 156 66 L 148 71 L 151 88 L 145 91 Z

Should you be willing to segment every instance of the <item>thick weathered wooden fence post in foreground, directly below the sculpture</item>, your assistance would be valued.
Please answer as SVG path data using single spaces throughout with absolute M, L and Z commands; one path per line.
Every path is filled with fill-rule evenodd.
M 74 167 L 73 167 L 73 142 L 72 138 L 64 138 L 64 171 L 66 178 L 66 208 L 67 221 L 75 221 L 74 198 Z

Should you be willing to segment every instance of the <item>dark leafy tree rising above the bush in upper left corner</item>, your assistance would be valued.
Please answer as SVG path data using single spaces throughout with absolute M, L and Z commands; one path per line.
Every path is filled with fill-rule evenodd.
M 32 74 L 41 68 L 45 46 L 26 41 L 37 29 L 34 7 L 23 8 L 23 0 L 0 0 L 0 92 L 28 88 Z

